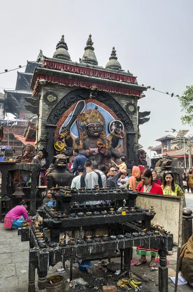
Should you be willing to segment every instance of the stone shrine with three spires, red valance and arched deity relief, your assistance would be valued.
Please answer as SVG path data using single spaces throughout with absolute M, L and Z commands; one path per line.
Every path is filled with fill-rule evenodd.
M 78 63 L 62 36 L 53 57 L 35 68 L 31 89 L 26 100 L 38 116 L 37 146 L 49 153 L 47 165 L 61 150 L 72 157 L 74 148 L 98 165 L 123 155 L 138 162 L 139 117 L 140 124 L 149 119 L 141 119 L 138 100 L 146 87 L 122 69 L 115 47 L 101 67 L 89 35 Z

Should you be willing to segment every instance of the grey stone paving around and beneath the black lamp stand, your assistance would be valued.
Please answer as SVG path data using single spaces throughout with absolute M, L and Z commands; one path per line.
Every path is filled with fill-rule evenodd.
M 20 236 L 18 236 L 17 230 L 8 230 L 3 228 L 3 223 L 0 223 L 0 292 L 27 292 L 28 290 L 28 250 L 29 242 L 21 242 Z M 134 255 L 135 249 L 134 249 Z M 169 256 L 170 264 L 168 268 L 175 270 L 176 263 L 176 249 L 174 249 L 174 255 Z M 115 259 L 114 259 L 115 260 Z M 136 260 L 138 257 L 136 256 Z M 117 260 L 119 261 L 119 259 Z M 55 267 L 61 268 L 62 263 L 58 263 Z M 49 274 L 55 272 L 55 267 L 50 267 Z M 79 271 L 77 264 L 74 267 L 74 277 L 87 277 L 85 272 Z M 69 268 L 67 268 L 68 270 Z M 25 270 L 27 272 L 21 273 L 20 271 Z M 158 272 L 150 272 L 148 265 L 142 265 L 141 267 L 132 267 L 134 273 L 138 273 L 144 278 L 150 279 L 150 284 L 146 284 L 145 287 L 141 288 L 141 292 L 144 291 L 158 291 Z M 94 273 L 95 278 L 98 272 Z M 104 272 L 102 272 L 104 273 Z M 68 274 L 68 271 L 65 272 Z M 100 271 L 101 276 L 101 271 Z M 105 273 L 104 273 L 105 276 Z M 67 275 L 68 277 L 68 275 Z M 91 277 L 88 274 L 88 281 Z M 108 277 L 109 278 L 109 277 Z M 35 281 L 35 285 L 36 285 Z M 149 287 L 147 287 L 149 285 Z M 149 289 L 151 286 L 151 289 Z M 76 289 L 71 289 L 73 292 Z M 89 290 L 88 291 L 93 291 Z M 98 292 L 97 290 L 94 290 Z M 100 289 L 99 289 L 100 291 Z M 134 290 L 131 290 L 134 291 Z M 169 292 L 174 291 L 174 284 L 169 279 Z M 191 292 L 193 288 L 191 286 L 182 285 L 178 286 L 179 292 Z

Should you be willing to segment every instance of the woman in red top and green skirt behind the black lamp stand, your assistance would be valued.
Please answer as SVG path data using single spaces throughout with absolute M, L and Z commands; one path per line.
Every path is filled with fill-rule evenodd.
M 137 192 L 163 195 L 163 191 L 160 185 L 153 182 L 153 176 L 150 169 L 144 169 L 140 176 L 142 182 L 138 184 L 136 188 Z M 158 257 L 158 250 L 156 248 L 149 249 L 138 246 L 137 254 L 141 257 L 136 266 L 140 266 L 141 264 L 146 263 L 146 256 L 151 256 L 149 267 L 156 266 L 156 257 Z

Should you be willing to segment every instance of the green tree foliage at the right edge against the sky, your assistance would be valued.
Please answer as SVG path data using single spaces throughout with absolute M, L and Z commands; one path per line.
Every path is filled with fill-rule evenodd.
M 186 91 L 179 97 L 181 103 L 181 111 L 185 111 L 185 115 L 181 117 L 182 124 L 193 126 L 193 85 L 187 86 Z

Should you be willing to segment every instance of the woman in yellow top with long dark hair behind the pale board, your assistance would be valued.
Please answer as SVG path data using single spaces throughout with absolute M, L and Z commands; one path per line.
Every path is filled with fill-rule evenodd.
M 165 171 L 163 174 L 163 184 L 161 185 L 164 195 L 177 196 L 179 194 L 181 197 L 184 193 L 180 186 L 175 183 L 174 173 L 172 171 Z

